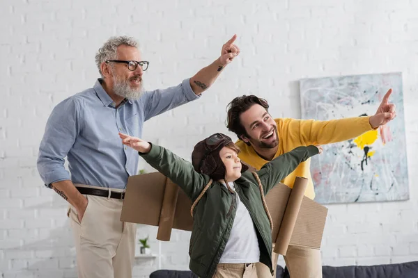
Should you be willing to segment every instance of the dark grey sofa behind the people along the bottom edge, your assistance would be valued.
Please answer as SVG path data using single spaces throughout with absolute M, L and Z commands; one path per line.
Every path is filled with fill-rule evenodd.
M 277 265 L 277 278 L 287 278 Z M 191 271 L 157 270 L 150 278 L 197 278 Z M 418 261 L 389 265 L 323 266 L 323 278 L 418 278 Z

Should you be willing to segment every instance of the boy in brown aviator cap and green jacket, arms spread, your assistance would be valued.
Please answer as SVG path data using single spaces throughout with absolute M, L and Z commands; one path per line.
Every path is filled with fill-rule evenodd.
M 264 196 L 322 147 L 297 147 L 250 173 L 238 158 L 238 147 L 222 133 L 198 142 L 192 163 L 164 147 L 119 136 L 192 199 L 192 272 L 202 278 L 256 277 L 255 263 L 261 262 L 273 275 L 272 220 Z

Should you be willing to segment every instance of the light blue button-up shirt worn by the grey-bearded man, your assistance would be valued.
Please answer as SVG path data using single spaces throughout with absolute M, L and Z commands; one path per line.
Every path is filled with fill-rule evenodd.
M 116 108 L 101 81 L 62 101 L 49 116 L 38 156 L 38 171 L 47 186 L 70 179 L 124 189 L 127 178 L 137 174 L 139 155 L 122 144 L 118 132 L 141 138 L 150 117 L 198 98 L 185 79 L 175 87 L 144 92 L 138 100 L 125 100 Z M 64 167 L 65 156 L 71 177 Z

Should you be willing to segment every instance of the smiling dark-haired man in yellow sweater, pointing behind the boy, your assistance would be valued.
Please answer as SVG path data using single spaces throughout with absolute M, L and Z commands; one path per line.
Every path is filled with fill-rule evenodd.
M 240 140 L 240 158 L 245 163 L 261 169 L 265 163 L 291 149 L 307 145 L 325 145 L 355 138 L 366 131 L 387 124 L 396 116 L 394 104 L 389 104 L 389 90 L 375 115 L 350 117 L 340 120 L 315 121 L 290 118 L 273 119 L 268 113 L 268 102 L 254 95 L 235 97 L 228 106 L 227 127 Z M 309 179 L 305 195 L 314 199 L 314 184 L 309 172 L 310 159 L 300 165 L 281 182 L 293 187 L 295 177 Z M 278 254 L 273 253 L 273 265 Z M 320 251 L 290 246 L 284 256 L 291 278 L 322 277 Z M 268 269 L 257 265 L 258 277 L 270 277 Z

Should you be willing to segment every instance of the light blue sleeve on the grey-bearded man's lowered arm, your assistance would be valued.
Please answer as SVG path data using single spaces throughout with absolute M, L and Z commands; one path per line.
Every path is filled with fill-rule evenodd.
M 51 183 L 70 179 L 70 173 L 64 167 L 64 158 L 79 134 L 80 112 L 76 100 L 70 97 L 58 104 L 49 115 L 37 161 L 45 186 L 51 187 Z

